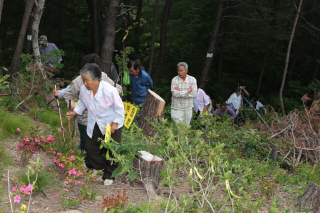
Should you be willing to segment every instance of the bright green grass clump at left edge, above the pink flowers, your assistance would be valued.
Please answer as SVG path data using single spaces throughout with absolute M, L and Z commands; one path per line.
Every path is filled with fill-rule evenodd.
M 4 115 L 0 127 L 4 135 L 13 135 L 16 128 L 19 128 L 21 133 L 29 130 L 31 122 L 32 120 L 24 115 L 7 113 Z

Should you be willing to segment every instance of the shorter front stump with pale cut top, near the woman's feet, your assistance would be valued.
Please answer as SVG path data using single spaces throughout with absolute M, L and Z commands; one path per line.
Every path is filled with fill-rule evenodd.
M 143 186 L 152 195 L 155 196 L 159 187 L 160 173 L 163 160 L 147 151 L 140 151 L 141 156 L 135 156 L 132 163 L 137 177 L 144 182 Z

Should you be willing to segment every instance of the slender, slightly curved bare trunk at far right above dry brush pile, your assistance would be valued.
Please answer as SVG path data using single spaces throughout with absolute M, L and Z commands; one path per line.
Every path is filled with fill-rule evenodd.
M 288 48 L 287 48 L 287 51 L 286 51 L 286 58 L 285 58 L 285 63 L 284 63 L 284 71 L 283 71 L 283 75 L 282 75 L 282 82 L 281 82 L 280 91 L 279 91 L 280 107 L 281 107 L 281 112 L 282 112 L 283 116 L 285 116 L 285 110 L 284 110 L 283 99 L 282 99 L 282 91 L 283 91 L 283 86 L 284 86 L 284 82 L 285 82 L 286 71 L 288 69 L 290 49 L 291 49 L 291 44 L 292 44 L 292 40 L 293 40 L 293 35 L 294 35 L 296 23 L 297 23 L 298 18 L 299 18 L 302 1 L 303 0 L 300 0 L 300 2 L 299 2 L 299 6 L 298 6 L 298 9 L 296 11 L 294 23 L 293 23 L 293 26 L 292 26 L 292 31 L 291 31 L 290 38 L 289 38 Z

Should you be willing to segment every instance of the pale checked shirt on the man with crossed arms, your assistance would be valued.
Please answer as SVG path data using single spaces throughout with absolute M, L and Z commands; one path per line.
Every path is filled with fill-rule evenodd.
M 174 87 L 178 87 L 179 90 L 175 90 Z M 191 88 L 190 93 L 187 89 Z M 193 97 L 196 96 L 197 86 L 196 79 L 190 75 L 186 75 L 184 81 L 177 75 L 172 78 L 171 81 L 171 108 L 177 110 L 186 110 L 193 107 Z

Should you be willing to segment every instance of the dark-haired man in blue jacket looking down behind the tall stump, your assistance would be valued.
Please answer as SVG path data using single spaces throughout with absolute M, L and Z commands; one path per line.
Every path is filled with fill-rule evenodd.
M 152 89 L 152 79 L 148 73 L 139 69 L 139 65 L 136 60 L 130 60 L 127 66 L 130 72 L 129 77 L 132 86 L 133 105 L 143 105 L 146 91 L 148 89 Z M 140 111 L 135 114 L 135 122 L 137 124 L 140 122 L 141 111 L 142 108 L 140 108 Z

